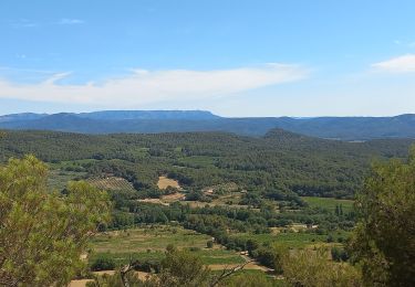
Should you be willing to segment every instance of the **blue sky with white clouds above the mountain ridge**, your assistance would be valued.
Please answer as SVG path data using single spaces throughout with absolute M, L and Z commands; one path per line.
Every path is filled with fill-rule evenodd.
M 414 13 L 413 0 L 1 0 L 0 114 L 414 114 Z

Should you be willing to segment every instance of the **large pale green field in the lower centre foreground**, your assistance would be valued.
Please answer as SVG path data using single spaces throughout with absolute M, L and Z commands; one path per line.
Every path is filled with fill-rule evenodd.
M 207 235 L 168 225 L 102 233 L 91 241 L 91 247 L 94 252 L 90 262 L 102 255 L 111 257 L 120 265 L 128 263 L 129 259 L 160 259 L 169 244 L 177 248 L 189 249 L 200 256 L 206 265 L 241 264 L 245 262 L 234 251 L 224 249 L 220 246 L 215 246 L 211 249 L 206 248 L 206 243 L 209 240 L 210 237 Z

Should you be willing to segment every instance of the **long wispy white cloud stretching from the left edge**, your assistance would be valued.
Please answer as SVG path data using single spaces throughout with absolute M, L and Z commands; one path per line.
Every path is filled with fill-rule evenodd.
M 38 84 L 15 84 L 0 79 L 0 98 L 59 103 L 101 104 L 128 107 L 172 100 L 198 100 L 227 96 L 259 87 L 300 81 L 309 71 L 298 65 L 266 64 L 216 71 L 146 71 L 84 85 L 60 85 L 69 73 L 55 74 Z

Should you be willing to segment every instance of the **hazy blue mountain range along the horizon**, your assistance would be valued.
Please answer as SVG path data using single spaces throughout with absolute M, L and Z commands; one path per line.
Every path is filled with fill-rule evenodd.
M 415 115 L 396 117 L 225 118 L 203 110 L 106 110 L 82 114 L 15 114 L 0 128 L 83 134 L 226 131 L 261 137 L 272 128 L 320 138 L 415 138 Z

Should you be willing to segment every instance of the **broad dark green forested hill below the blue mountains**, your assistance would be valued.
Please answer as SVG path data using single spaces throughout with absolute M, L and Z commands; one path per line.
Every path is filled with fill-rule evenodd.
M 110 172 L 143 190 L 156 189 L 160 174 L 187 190 L 235 182 L 263 194 L 350 198 L 374 158 L 404 158 L 415 140 L 365 142 L 326 140 L 274 129 L 267 136 L 224 132 L 83 135 L 10 131 L 0 157 L 33 153 L 48 162 L 86 160 L 76 169 Z

